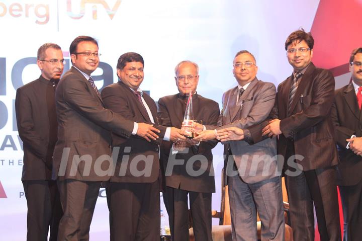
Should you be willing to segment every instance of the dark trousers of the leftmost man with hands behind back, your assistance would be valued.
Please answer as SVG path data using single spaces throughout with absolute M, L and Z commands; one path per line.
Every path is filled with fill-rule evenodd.
M 59 220 L 63 214 L 55 181 L 23 181 L 27 199 L 27 241 L 56 241 Z

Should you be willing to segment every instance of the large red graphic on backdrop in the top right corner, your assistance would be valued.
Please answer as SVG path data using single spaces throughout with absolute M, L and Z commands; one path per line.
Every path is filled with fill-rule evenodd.
M 361 47 L 361 0 L 320 0 L 311 33 L 315 40 L 313 63 L 334 76 L 349 72 L 349 56 Z

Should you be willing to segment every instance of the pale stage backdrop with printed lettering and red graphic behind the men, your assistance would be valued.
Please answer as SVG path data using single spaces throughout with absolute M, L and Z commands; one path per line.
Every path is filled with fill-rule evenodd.
M 70 42 L 78 35 L 98 39 L 101 64 L 93 76 L 99 89 L 117 82 L 116 63 L 121 54 L 138 52 L 145 60 L 141 88 L 150 91 L 155 101 L 177 92 L 174 66 L 185 59 L 195 61 L 200 66 L 198 93 L 221 107 L 223 92 L 236 86 L 232 74 L 235 53 L 249 50 L 259 67 L 257 77 L 278 85 L 292 72 L 284 42 L 299 28 L 312 30 L 317 36 L 316 65 L 338 70 L 334 72 L 339 75 L 338 87 L 347 83 L 348 56 L 360 39 L 353 26 L 358 23 L 361 1 L 346 1 L 343 6 L 336 0 L 0 1 L 0 239 L 26 237 L 23 152 L 14 101 L 16 89 L 40 75 L 36 65 L 40 45 L 59 44 L 66 71 Z M 221 144 L 214 154 L 217 192 L 213 209 L 220 210 Z M 105 192 L 101 190 L 91 240 L 107 240 L 108 225 Z

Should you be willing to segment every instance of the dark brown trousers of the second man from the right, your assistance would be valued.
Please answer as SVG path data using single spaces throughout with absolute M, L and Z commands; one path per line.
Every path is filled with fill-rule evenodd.
M 290 141 L 286 159 L 293 154 L 294 143 Z M 297 176 L 286 175 L 285 180 L 294 240 L 314 240 L 313 204 L 320 240 L 341 240 L 335 169 L 301 171 Z

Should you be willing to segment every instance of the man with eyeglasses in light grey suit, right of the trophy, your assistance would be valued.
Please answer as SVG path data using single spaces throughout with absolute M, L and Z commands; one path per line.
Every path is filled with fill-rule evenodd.
M 218 126 L 207 126 L 196 140 L 210 140 L 224 128 L 245 128 L 263 121 L 272 110 L 276 88 L 259 81 L 255 57 L 246 50 L 236 53 L 233 74 L 237 87 L 223 95 Z M 215 128 L 217 128 L 215 130 Z M 257 214 L 261 240 L 284 240 L 281 172 L 277 169 L 276 138 L 258 145 L 223 141 L 224 180 L 229 188 L 233 240 L 257 240 Z

